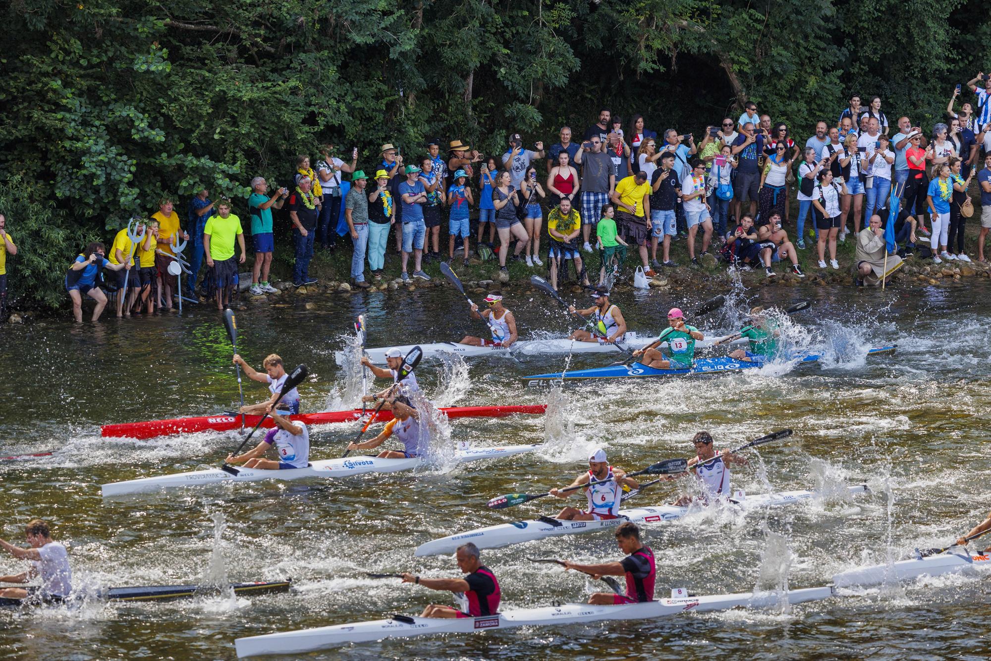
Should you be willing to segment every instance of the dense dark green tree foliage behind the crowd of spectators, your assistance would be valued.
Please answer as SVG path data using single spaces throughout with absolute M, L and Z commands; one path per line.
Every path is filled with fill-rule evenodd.
M 23 249 L 11 260 L 22 300 L 28 283 L 57 288 L 53 263 L 77 249 L 59 241 L 119 227 L 165 193 L 243 198 L 256 174 L 284 183 L 295 155 L 325 141 L 357 145 L 371 168 L 380 144 L 416 154 L 434 135 L 487 153 L 512 129 L 550 144 L 602 105 L 698 134 L 744 98 L 803 135 L 850 91 L 929 127 L 955 83 L 991 67 L 978 0 L 12 0 L 0 11 L 0 180 L 23 177 L 32 199 L 18 211 L 46 209 L 10 214 L 12 232 L 59 217 L 78 228 L 27 243 L 47 260 Z M 46 266 L 58 273 L 35 273 Z

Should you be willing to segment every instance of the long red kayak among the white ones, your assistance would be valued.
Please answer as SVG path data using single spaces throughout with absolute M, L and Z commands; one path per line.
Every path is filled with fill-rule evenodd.
M 441 409 L 448 418 L 504 418 L 517 413 L 541 415 L 547 410 L 545 404 L 527 406 L 459 406 Z M 372 410 L 369 410 L 371 413 Z M 328 411 L 326 413 L 301 413 L 289 416 L 292 420 L 307 425 L 327 425 L 330 423 L 354 422 L 362 417 L 362 410 Z M 245 427 L 254 427 L 262 416 L 245 416 Z M 392 419 L 389 411 L 380 411 L 378 420 L 388 422 Z M 275 427 L 272 418 L 267 418 L 262 427 Z M 175 418 L 174 420 L 150 420 L 140 423 L 124 423 L 121 425 L 104 425 L 100 428 L 100 436 L 127 439 L 154 439 L 157 436 L 173 434 L 189 434 L 192 432 L 228 432 L 241 429 L 241 416 L 220 414 L 203 416 L 201 418 Z

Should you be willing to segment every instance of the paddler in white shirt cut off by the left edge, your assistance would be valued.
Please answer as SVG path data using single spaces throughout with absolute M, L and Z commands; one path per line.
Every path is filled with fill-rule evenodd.
M 10 555 L 32 562 L 32 568 L 14 576 L 0 576 L 0 583 L 28 583 L 41 577 L 37 588 L 7 588 L 0 590 L 0 597 L 23 599 L 38 597 L 42 601 L 60 601 L 72 592 L 72 570 L 68 566 L 68 552 L 52 539 L 49 524 L 41 519 L 28 522 L 25 529 L 30 549 L 22 549 L 0 539 L 0 547 Z

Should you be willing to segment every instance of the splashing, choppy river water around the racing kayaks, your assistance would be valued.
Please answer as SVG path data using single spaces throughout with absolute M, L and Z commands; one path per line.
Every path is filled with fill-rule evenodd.
M 689 310 L 719 292 L 618 296 L 629 327 L 657 331 L 672 305 Z M 23 543 L 32 517 L 54 522 L 69 546 L 77 588 L 224 583 L 291 577 L 286 595 L 202 595 L 173 603 L 0 610 L 0 658 L 233 658 L 236 637 L 418 613 L 448 597 L 364 572 L 458 576 L 451 557 L 414 558 L 435 537 L 553 514 L 560 502 L 513 510 L 484 503 L 503 492 L 540 492 L 568 483 L 588 452 L 603 446 L 628 469 L 691 457 L 709 430 L 717 448 L 791 428 L 787 441 L 748 451 L 733 487 L 748 493 L 817 489 L 804 504 L 746 517 L 720 509 L 654 524 L 646 542 L 657 557 L 657 595 L 699 595 L 826 585 L 833 574 L 944 546 L 987 513 L 991 331 L 987 281 L 964 287 L 888 292 L 849 288 L 735 293 L 699 320 L 729 331 L 756 303 L 782 308 L 812 295 L 814 305 L 783 321 L 787 341 L 826 353 L 821 365 L 770 365 L 745 373 L 672 380 L 587 383 L 562 391 L 523 386 L 518 377 L 560 369 L 567 356 L 424 360 L 421 386 L 438 406 L 547 403 L 546 417 L 460 420 L 439 445 L 547 443 L 544 452 L 505 460 L 435 465 L 414 473 L 333 482 L 214 485 L 103 500 L 108 481 L 208 467 L 236 447 L 235 433 L 153 441 L 103 440 L 99 425 L 202 415 L 230 409 L 237 384 L 231 347 L 215 310 L 97 328 L 49 322 L 5 327 L 8 365 L 0 397 L 0 456 L 56 450 L 54 457 L 0 462 L 0 536 Z M 304 362 L 307 410 L 351 408 L 355 372 L 333 352 L 365 313 L 369 344 L 457 340 L 478 333 L 463 300 L 449 290 L 408 296 L 354 295 L 239 312 L 239 350 L 259 365 L 270 352 Z M 507 292 L 520 334 L 562 335 L 568 320 L 539 293 Z M 695 320 L 689 320 L 694 323 Z M 870 346 L 897 344 L 892 356 L 864 358 Z M 607 364 L 583 355 L 572 367 Z M 382 384 L 380 382 L 380 386 Z M 246 380 L 246 398 L 264 396 Z M 982 422 L 983 421 L 983 422 Z M 356 433 L 353 424 L 317 428 L 311 459 L 330 459 Z M 438 456 L 449 456 L 440 452 Z M 871 492 L 842 494 L 842 483 Z M 686 489 L 667 483 L 630 505 L 671 502 Z M 578 500 L 574 500 L 578 503 Z M 980 542 L 972 549 L 983 548 Z M 584 600 L 604 589 L 525 556 L 605 562 L 619 558 L 605 532 L 483 552 L 499 577 L 502 609 Z M 0 556 L 0 574 L 25 566 Z M 474 636 L 357 645 L 349 658 L 984 658 L 991 633 L 980 576 L 937 578 L 859 590 L 772 610 L 684 614 L 654 621 L 522 628 Z M 320 658 L 340 658 L 341 650 Z

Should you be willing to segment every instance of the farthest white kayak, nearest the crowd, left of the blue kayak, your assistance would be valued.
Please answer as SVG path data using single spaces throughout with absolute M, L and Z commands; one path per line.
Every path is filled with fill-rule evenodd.
M 701 339 L 696 342 L 698 347 L 711 346 L 714 341 L 719 337 L 713 333 L 715 339 L 710 338 L 709 332 L 705 335 L 707 339 Z M 646 334 L 641 335 L 633 331 L 628 331 L 622 340 L 622 345 L 630 348 L 637 349 L 641 346 L 657 339 L 657 334 Z M 734 342 L 746 342 L 749 341 L 745 337 L 733 340 Z M 663 345 L 667 345 L 667 342 L 662 342 Z M 509 355 L 511 353 L 522 353 L 523 355 L 540 355 L 540 354 L 553 354 L 553 353 L 618 353 L 620 349 L 616 347 L 615 344 L 604 344 L 600 342 L 581 342 L 569 339 L 567 337 L 548 337 L 546 339 L 521 339 L 513 343 L 508 349 L 504 349 L 501 346 L 474 346 L 472 344 L 462 344 L 461 342 L 433 342 L 428 344 L 403 344 L 400 346 L 379 346 L 375 348 L 366 348 L 365 352 L 375 363 L 385 362 L 385 351 L 390 348 L 397 348 L 402 351 L 405 355 L 414 346 L 419 346 L 423 351 L 424 358 L 436 358 L 442 354 L 454 354 L 464 356 L 466 358 L 477 358 L 485 357 L 491 355 Z M 338 365 L 344 366 L 348 360 L 347 351 L 335 351 L 334 360 Z

